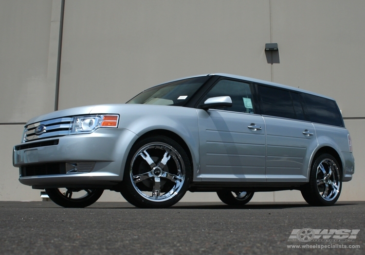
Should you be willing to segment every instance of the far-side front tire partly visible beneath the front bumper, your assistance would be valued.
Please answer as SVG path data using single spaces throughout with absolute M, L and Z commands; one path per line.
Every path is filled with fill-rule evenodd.
M 46 188 L 50 199 L 62 207 L 83 208 L 94 204 L 103 194 L 103 189 Z

